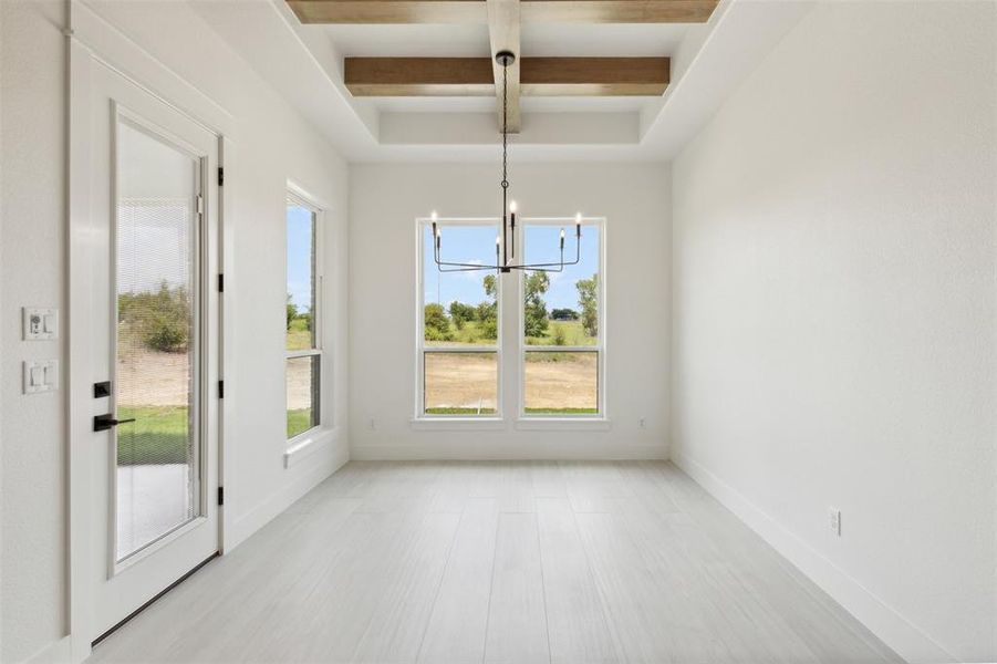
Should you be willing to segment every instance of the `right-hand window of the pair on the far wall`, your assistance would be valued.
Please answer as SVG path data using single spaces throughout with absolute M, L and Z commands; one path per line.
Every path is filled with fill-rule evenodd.
M 561 229 L 573 260 L 573 225 L 527 222 L 526 262 L 557 262 Z M 578 264 L 560 272 L 522 274 L 521 414 L 541 417 L 603 415 L 602 225 L 582 225 Z

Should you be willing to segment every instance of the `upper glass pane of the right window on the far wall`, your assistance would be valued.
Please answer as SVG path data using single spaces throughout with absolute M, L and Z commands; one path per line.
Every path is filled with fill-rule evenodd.
M 574 225 L 527 226 L 526 262 L 557 263 L 564 229 L 562 272 L 523 274 L 523 335 L 527 345 L 585 346 L 599 343 L 599 227 L 582 226 L 581 251 Z

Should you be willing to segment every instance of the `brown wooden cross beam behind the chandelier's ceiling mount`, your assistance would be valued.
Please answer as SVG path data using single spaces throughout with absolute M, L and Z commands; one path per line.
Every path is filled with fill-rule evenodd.
M 656 96 L 669 80 L 667 58 L 526 58 L 519 70 L 523 96 Z M 488 58 L 347 58 L 345 82 L 354 96 L 501 96 Z

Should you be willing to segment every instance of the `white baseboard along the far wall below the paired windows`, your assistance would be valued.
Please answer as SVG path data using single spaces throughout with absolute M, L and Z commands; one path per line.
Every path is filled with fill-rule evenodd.
M 350 458 L 360 461 L 486 461 L 486 460 L 653 460 L 668 458 L 667 445 L 622 445 L 622 446 L 583 446 L 583 445 L 509 445 L 497 449 L 495 446 L 477 448 L 467 443 L 461 444 L 419 444 L 419 445 L 354 445 L 350 449 Z

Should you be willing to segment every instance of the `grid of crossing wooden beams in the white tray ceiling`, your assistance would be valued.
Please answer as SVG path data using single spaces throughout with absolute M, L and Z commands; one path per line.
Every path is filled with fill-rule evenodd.
M 538 53 L 523 48 L 522 33 L 528 27 L 705 23 L 718 0 L 287 0 L 287 3 L 302 24 L 457 27 L 458 30 L 450 30 L 454 41 L 442 43 L 453 43 L 458 50 L 475 54 L 429 56 L 420 51 L 433 50 L 445 40 L 444 34 L 412 44 L 399 33 L 391 53 L 367 49 L 370 54 L 345 58 L 346 89 L 356 97 L 495 97 L 499 127 L 518 133 L 521 96 L 654 97 L 664 94 L 671 80 L 667 52 L 637 55 L 627 52 L 627 44 L 617 43 L 617 52 L 595 54 L 595 49 L 588 48 L 600 41 L 599 31 L 593 31 L 586 40 L 562 42 L 555 52 Z M 486 48 L 482 28 L 487 28 L 485 56 L 481 56 Z M 553 42 L 560 41 L 557 32 L 548 31 L 548 37 Z M 412 50 L 404 51 L 406 44 Z M 542 40 L 534 40 L 534 44 L 540 51 L 551 51 L 553 45 Z M 605 53 L 606 46 L 601 50 Z M 496 61 L 498 53 L 511 56 L 501 64 Z

